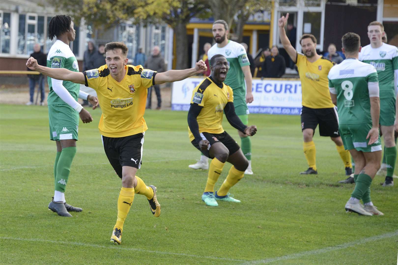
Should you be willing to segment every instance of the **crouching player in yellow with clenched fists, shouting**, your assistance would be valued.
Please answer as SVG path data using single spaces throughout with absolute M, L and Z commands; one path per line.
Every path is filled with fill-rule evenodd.
M 235 113 L 232 88 L 225 85 L 229 66 L 226 58 L 216 54 L 211 58 L 211 75 L 193 89 L 188 112 L 189 140 L 206 157 L 213 159 L 202 200 L 209 206 L 218 206 L 216 200 L 239 203 L 228 193 L 229 189 L 243 178 L 249 162 L 242 149 L 222 128 L 222 112 L 232 127 L 248 136 L 257 132 L 255 125 L 246 126 Z M 214 186 L 225 162 L 232 164 L 228 176 L 214 194 Z

